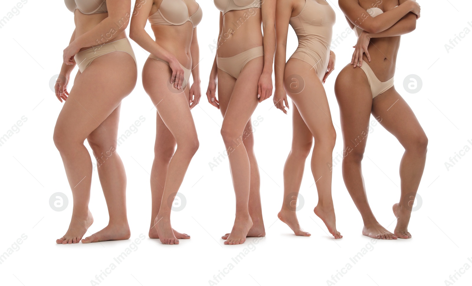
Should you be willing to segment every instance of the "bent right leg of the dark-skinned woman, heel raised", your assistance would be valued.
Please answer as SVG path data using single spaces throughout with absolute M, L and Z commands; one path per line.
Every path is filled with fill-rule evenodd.
M 372 114 L 376 118 L 381 118 L 380 124 L 405 148 L 400 162 L 400 202 L 393 205 L 393 212 L 397 219 L 394 233 L 398 238 L 411 238 L 408 223 L 423 175 L 428 138 L 412 109 L 395 88 L 374 98 Z

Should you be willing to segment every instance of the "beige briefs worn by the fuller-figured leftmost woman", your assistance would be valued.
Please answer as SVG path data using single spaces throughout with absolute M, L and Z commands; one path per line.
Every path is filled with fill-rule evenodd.
M 93 46 L 90 49 L 80 51 L 76 53 L 74 59 L 81 73 L 90 66 L 94 59 L 106 55 L 114 51 L 124 51 L 128 53 L 134 60 L 137 68 L 137 62 L 133 48 L 128 38 L 120 39 L 117 41 L 109 42 L 106 44 Z

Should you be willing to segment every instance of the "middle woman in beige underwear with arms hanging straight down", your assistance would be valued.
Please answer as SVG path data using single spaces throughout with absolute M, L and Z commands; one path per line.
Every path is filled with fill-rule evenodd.
M 235 222 L 222 238 L 225 244 L 242 244 L 246 237 L 265 236 L 251 116 L 258 103 L 272 94 L 275 0 L 214 3 L 221 11 L 218 48 L 206 94 L 223 115 L 221 136 L 236 194 Z

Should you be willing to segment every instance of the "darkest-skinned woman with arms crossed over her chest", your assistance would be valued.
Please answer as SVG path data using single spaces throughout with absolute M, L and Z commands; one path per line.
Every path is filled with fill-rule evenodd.
M 339 0 L 339 7 L 359 37 L 351 64 L 339 72 L 335 84 L 344 140 L 344 183 L 362 215 L 363 235 L 410 238 L 407 227 L 423 174 L 428 138 L 413 111 L 396 92 L 393 76 L 400 35 L 415 29 L 420 6 L 413 0 Z M 361 162 L 371 114 L 405 148 L 400 162 L 400 201 L 393 205 L 397 219 L 393 233 L 375 219 L 362 177 Z

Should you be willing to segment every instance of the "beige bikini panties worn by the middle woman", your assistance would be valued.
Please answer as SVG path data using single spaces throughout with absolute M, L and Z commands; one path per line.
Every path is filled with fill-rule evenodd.
M 216 66 L 234 78 L 238 78 L 244 66 L 251 60 L 264 56 L 264 47 L 259 46 L 245 50 L 228 58 L 216 58 Z

